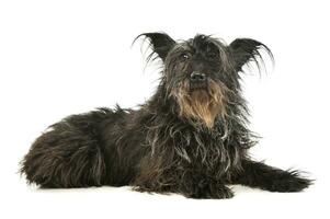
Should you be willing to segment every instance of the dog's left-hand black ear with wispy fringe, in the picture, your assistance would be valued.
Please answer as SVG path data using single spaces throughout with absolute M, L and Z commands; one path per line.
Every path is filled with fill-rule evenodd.
M 145 37 L 150 42 L 150 46 L 152 48 L 152 54 L 149 58 L 152 57 L 153 54 L 157 54 L 159 58 L 161 58 L 162 61 L 168 56 L 168 53 L 171 50 L 171 48 L 175 45 L 175 41 L 172 39 L 168 34 L 166 33 L 144 33 L 138 35 L 135 41 L 139 37 Z

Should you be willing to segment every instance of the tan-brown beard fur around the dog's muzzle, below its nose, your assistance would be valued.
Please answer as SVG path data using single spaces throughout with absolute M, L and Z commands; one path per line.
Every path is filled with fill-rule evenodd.
M 212 128 L 217 115 L 225 117 L 227 114 L 224 91 L 225 89 L 213 80 L 205 90 L 190 91 L 189 81 L 184 81 L 172 95 L 179 103 L 180 116 L 196 118 L 207 128 Z

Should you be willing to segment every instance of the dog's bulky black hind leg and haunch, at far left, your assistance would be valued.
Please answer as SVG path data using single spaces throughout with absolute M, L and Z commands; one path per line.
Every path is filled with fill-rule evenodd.
M 27 182 L 58 188 L 102 185 L 104 154 L 92 122 L 86 115 L 69 117 L 37 138 L 22 161 Z

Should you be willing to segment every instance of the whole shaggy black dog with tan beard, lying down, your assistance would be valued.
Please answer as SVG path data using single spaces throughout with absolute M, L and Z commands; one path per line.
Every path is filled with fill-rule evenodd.
M 132 185 L 140 192 L 229 198 L 226 184 L 299 192 L 311 181 L 252 161 L 257 136 L 248 127 L 240 73 L 263 48 L 239 38 L 226 46 L 196 35 L 175 42 L 146 33 L 163 62 L 156 94 L 139 110 L 100 108 L 53 125 L 33 143 L 21 172 L 42 187 Z M 138 36 L 138 37 L 140 37 Z

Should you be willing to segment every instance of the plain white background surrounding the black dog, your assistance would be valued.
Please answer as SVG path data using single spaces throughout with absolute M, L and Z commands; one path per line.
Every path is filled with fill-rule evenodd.
M 327 1 L 0 1 L 0 218 L 329 218 L 329 5 Z M 128 187 L 42 191 L 16 174 L 50 124 L 76 113 L 143 103 L 157 87 L 144 32 L 175 39 L 251 37 L 275 67 L 244 77 L 254 158 L 316 178 L 304 193 L 234 186 L 228 200 L 148 195 Z

